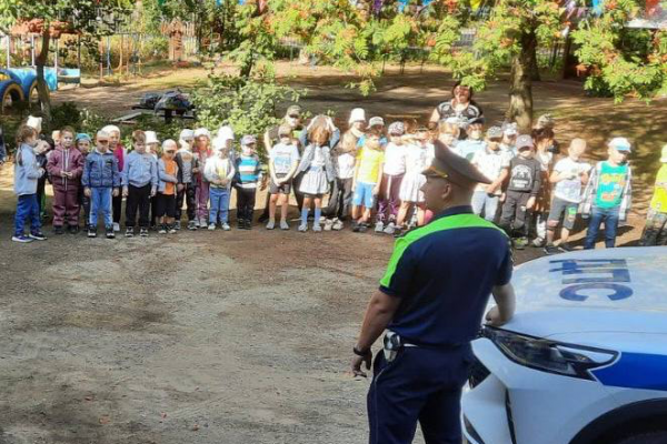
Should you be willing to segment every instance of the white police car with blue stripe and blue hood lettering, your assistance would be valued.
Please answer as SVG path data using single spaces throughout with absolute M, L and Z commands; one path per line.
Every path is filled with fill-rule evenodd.
M 667 443 L 667 246 L 517 266 L 517 314 L 472 343 L 474 444 Z

